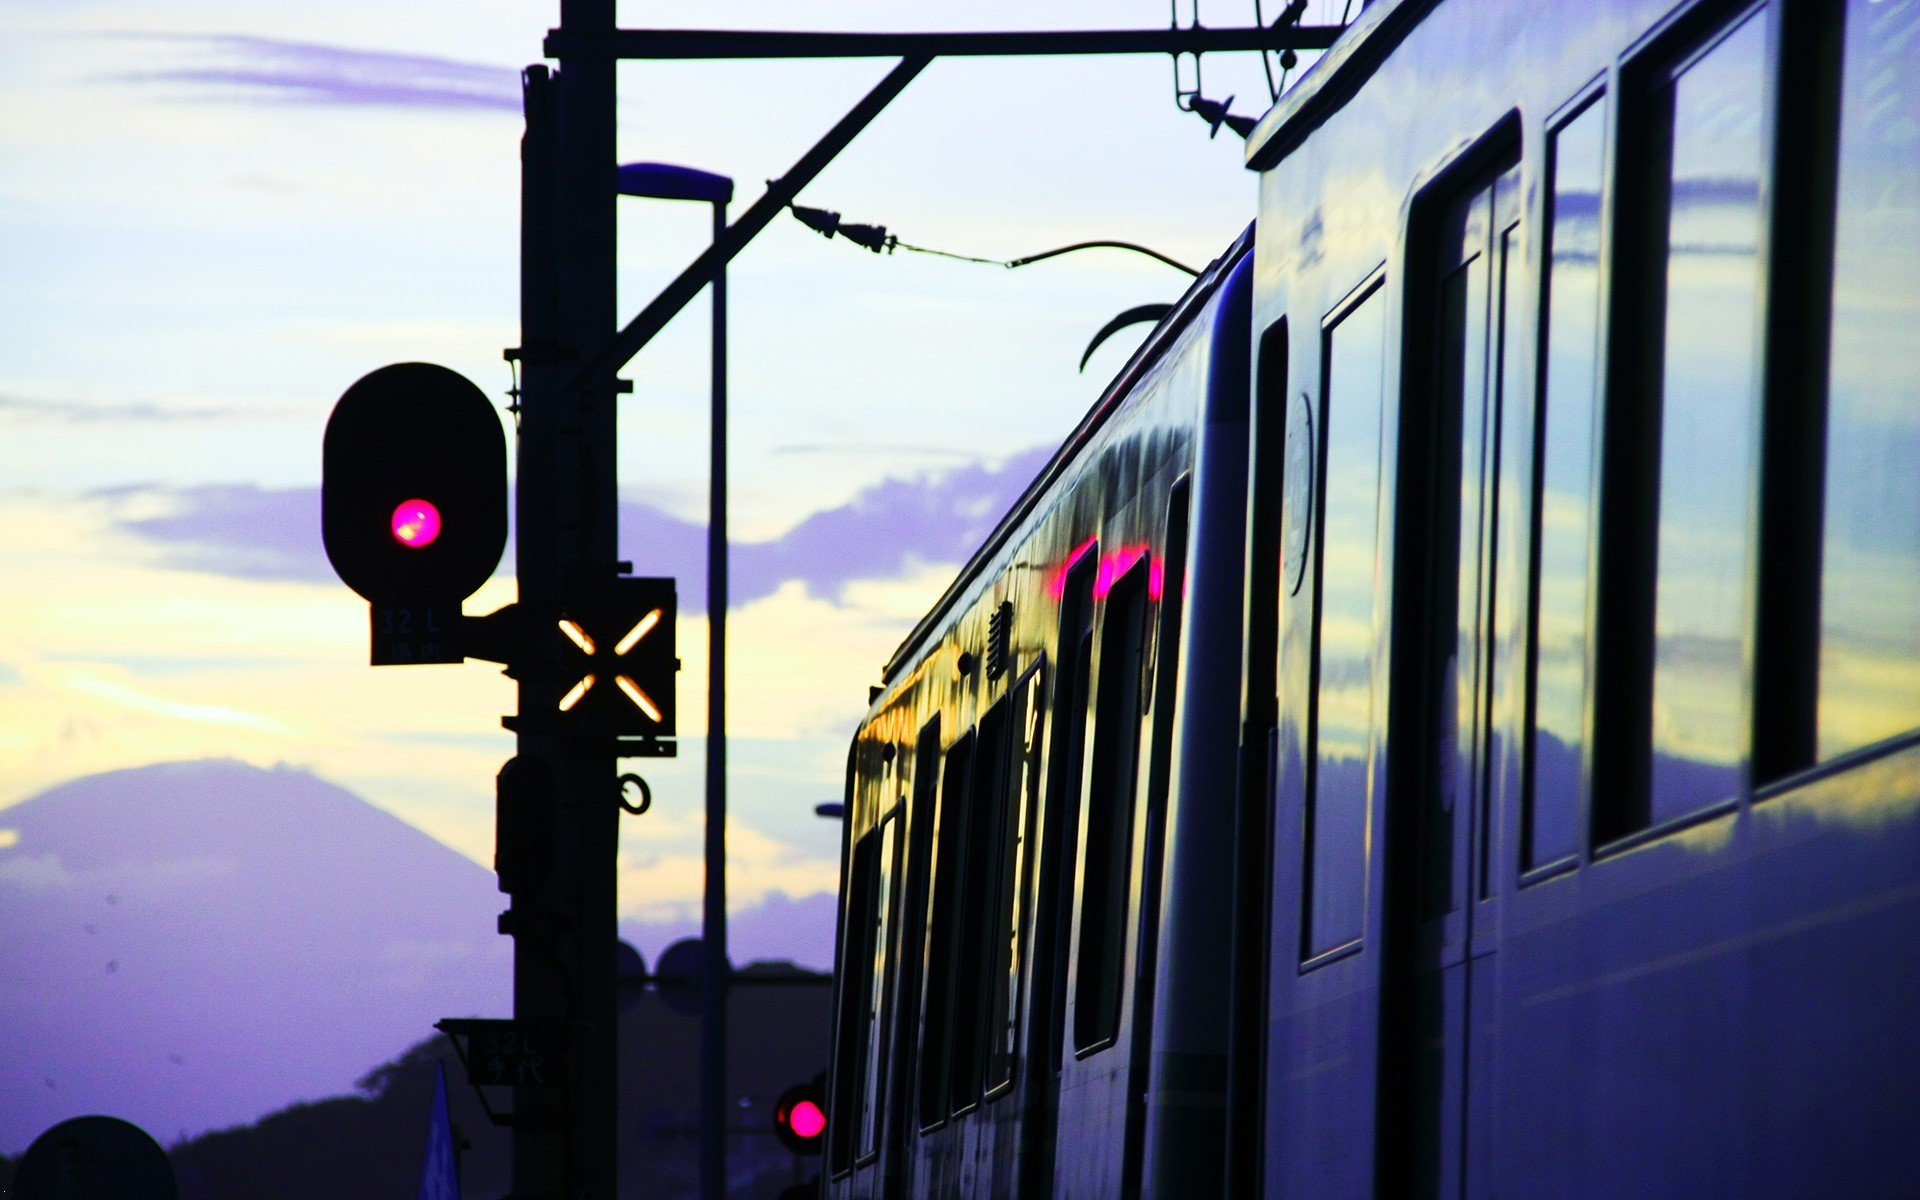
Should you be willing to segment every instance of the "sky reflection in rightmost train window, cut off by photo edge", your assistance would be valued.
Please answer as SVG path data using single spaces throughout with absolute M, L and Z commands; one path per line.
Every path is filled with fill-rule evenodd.
M 1851 0 L 1834 242 L 1822 758 L 1920 728 L 1920 6 Z

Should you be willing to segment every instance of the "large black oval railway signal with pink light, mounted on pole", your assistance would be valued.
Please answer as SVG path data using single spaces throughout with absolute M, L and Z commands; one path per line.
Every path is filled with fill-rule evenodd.
M 461 601 L 507 545 L 507 438 L 486 394 L 432 363 L 363 376 L 326 419 L 321 538 L 371 605 L 374 666 L 459 662 Z

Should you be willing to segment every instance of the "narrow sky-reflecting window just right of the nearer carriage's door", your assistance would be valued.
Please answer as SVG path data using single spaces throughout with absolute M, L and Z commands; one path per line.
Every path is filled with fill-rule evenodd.
M 1599 213 L 1607 102 L 1561 123 L 1549 144 L 1546 361 L 1534 424 L 1534 630 L 1523 866 L 1580 849 L 1580 758 L 1592 637 L 1594 445 L 1599 382 Z

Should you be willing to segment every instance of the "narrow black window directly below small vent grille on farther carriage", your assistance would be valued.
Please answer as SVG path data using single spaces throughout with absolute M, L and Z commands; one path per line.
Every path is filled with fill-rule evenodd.
M 950 1112 L 960 1112 L 979 1100 L 981 1041 L 985 1039 L 987 929 L 993 910 L 987 900 L 995 876 L 995 822 L 1008 776 L 1008 701 L 1002 697 L 979 718 L 973 743 L 973 768 L 968 780 L 966 831 L 960 839 L 960 862 L 954 908 L 954 989 L 952 1020 L 948 1021 L 948 1100 Z

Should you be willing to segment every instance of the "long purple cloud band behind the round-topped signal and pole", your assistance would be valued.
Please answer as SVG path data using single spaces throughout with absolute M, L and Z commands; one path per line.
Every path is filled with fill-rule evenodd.
M 996 467 L 968 465 L 908 480 L 881 480 L 837 509 L 814 513 L 770 541 L 735 541 L 732 595 L 745 605 L 799 580 L 812 595 L 839 603 L 856 580 L 899 578 L 918 563 L 964 563 L 1025 486 L 1052 447 L 1014 455 Z M 321 547 L 317 488 L 271 490 L 217 484 L 94 493 L 117 501 L 163 495 L 159 516 L 119 516 L 115 524 L 154 543 L 179 570 L 240 580 L 332 582 Z M 637 574 L 680 580 L 680 605 L 707 609 L 707 526 L 637 499 L 620 503 L 620 553 Z M 503 559 L 513 564 L 513 549 Z

